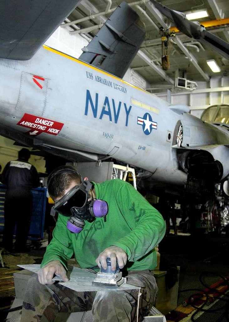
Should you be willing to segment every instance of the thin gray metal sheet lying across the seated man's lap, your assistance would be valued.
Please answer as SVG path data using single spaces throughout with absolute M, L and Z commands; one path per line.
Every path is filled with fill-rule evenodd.
M 30 270 L 34 273 L 38 273 L 40 270 L 39 264 L 33 265 L 18 265 L 26 270 Z M 69 289 L 73 289 L 74 291 L 81 292 L 81 291 L 121 291 L 126 289 L 140 289 L 137 286 L 130 285 L 130 284 L 122 284 L 120 286 L 106 286 L 106 285 L 92 285 L 93 280 L 96 277 L 95 273 L 89 272 L 87 269 L 80 269 L 77 267 L 68 267 L 67 272 L 68 278 L 70 280 L 68 282 L 60 282 L 61 285 L 68 287 Z M 61 281 L 61 277 L 56 275 L 53 280 Z

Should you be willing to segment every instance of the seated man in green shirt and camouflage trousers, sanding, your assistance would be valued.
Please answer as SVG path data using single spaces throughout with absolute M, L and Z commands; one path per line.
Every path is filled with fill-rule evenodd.
M 86 194 L 85 186 L 91 187 Z M 73 254 L 81 268 L 89 269 L 97 264 L 95 271 L 101 266 L 106 269 L 106 258 L 111 259 L 113 270 L 116 262 L 120 269 L 124 268 L 127 283 L 141 288 L 141 321 L 157 296 L 152 270 L 157 266 L 155 246 L 165 235 L 161 214 L 130 184 L 119 179 L 90 183 L 69 166 L 59 167 L 49 176 L 48 191 L 59 211 L 58 220 L 41 270 L 28 282 L 21 322 L 54 321 L 58 312 L 86 310 L 92 310 L 95 322 L 136 321 L 138 290 L 76 292 L 59 283 L 53 284 L 54 274 L 68 280 L 67 260 Z M 108 204 L 105 217 L 91 219 L 90 214 L 86 215 L 85 205 L 91 199 Z M 74 222 L 74 214 L 82 220 Z M 70 217 L 78 225 L 76 233 L 71 232 L 75 226 L 72 222 L 69 226 Z

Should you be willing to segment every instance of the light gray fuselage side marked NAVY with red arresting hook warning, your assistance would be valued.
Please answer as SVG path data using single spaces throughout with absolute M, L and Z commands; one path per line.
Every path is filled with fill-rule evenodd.
M 60 149 L 110 155 L 154 173 L 155 180 L 184 183 L 174 129 L 181 118 L 201 127 L 199 119 L 47 46 L 29 61 L 0 59 L 0 71 L 3 128 Z M 205 135 L 211 131 L 219 133 L 208 125 Z

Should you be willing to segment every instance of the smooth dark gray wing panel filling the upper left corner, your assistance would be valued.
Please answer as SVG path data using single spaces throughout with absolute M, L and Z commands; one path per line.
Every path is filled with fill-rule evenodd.
M 0 57 L 30 59 L 81 0 L 0 0 Z

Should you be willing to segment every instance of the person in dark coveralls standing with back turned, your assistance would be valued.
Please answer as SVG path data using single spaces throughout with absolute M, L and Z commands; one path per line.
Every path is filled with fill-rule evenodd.
M 7 187 L 2 246 L 8 251 L 13 250 L 15 224 L 17 225 L 15 251 L 26 251 L 32 216 L 31 188 L 39 185 L 37 170 L 28 162 L 29 158 L 30 151 L 22 148 L 18 152 L 18 159 L 8 162 L 1 175 L 1 181 Z

